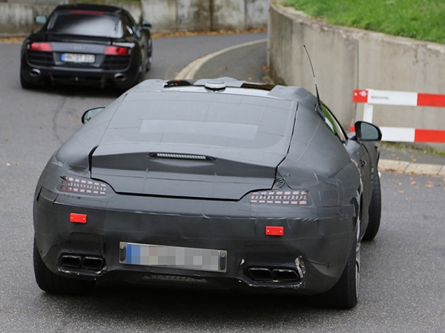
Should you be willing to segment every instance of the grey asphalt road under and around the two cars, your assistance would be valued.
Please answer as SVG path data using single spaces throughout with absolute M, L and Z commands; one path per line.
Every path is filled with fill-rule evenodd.
M 265 34 L 155 40 L 150 78 Z M 445 179 L 382 172 L 381 231 L 362 246 L 360 302 L 324 309 L 295 296 L 99 286 L 47 295 L 32 268 L 32 198 L 46 161 L 113 91 L 24 91 L 19 44 L 0 44 L 0 332 L 444 332 Z M 259 65 L 260 66 L 260 65 Z M 261 65 L 262 66 L 262 65 Z

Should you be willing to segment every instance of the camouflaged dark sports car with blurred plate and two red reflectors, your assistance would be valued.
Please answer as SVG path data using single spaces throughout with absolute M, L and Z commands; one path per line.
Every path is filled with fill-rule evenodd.
M 348 138 L 309 91 L 229 77 L 146 80 L 83 122 L 36 187 L 41 289 L 185 283 L 355 306 L 379 128 Z

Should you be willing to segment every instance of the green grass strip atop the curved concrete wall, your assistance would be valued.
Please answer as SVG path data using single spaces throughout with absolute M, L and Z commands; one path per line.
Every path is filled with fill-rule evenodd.
M 445 44 L 444 0 L 288 0 L 328 24 Z

